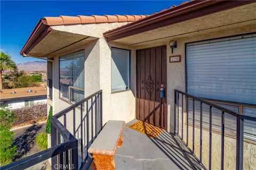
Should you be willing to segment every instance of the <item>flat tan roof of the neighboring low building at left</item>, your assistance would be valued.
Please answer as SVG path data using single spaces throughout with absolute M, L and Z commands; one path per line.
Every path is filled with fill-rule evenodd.
M 33 90 L 32 92 L 27 92 L 29 89 Z M 12 91 L 15 91 L 12 94 Z M 36 91 L 36 93 L 35 93 Z M 18 88 L 18 89 L 3 89 L 0 92 L 1 101 L 15 98 L 28 98 L 28 97 L 37 97 L 37 96 L 46 96 L 47 92 L 45 87 L 27 87 L 27 88 Z

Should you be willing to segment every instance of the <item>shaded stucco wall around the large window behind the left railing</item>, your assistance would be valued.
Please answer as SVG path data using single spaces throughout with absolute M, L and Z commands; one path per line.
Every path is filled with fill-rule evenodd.
M 52 98 L 52 107 L 53 107 L 53 115 L 59 113 L 60 111 L 63 111 L 63 109 L 66 109 L 70 106 L 70 104 L 60 98 L 60 90 L 59 90 L 59 56 L 63 56 L 69 53 L 76 52 L 78 50 L 84 49 L 85 54 L 85 82 L 84 82 L 84 96 L 89 96 L 93 92 L 96 92 L 100 89 L 100 76 L 99 76 L 99 40 L 91 41 L 90 43 L 78 46 L 75 49 L 70 50 L 69 52 L 58 52 L 57 55 L 51 56 L 53 57 L 53 98 Z M 93 105 L 95 107 L 95 105 Z M 95 114 L 95 110 L 94 110 Z M 92 112 L 91 112 L 91 100 L 89 101 L 89 126 L 91 128 L 91 118 Z M 95 122 L 95 115 L 93 122 Z M 82 118 L 81 118 L 82 117 Z M 64 118 L 63 116 L 59 118 L 59 121 L 64 124 Z M 81 138 L 81 124 L 83 124 L 83 138 Z M 75 125 L 75 126 L 74 126 Z M 84 146 L 86 145 L 86 112 L 82 112 L 80 109 L 75 109 L 75 115 L 72 112 L 69 112 L 66 114 L 66 128 L 69 130 L 69 132 L 73 133 L 74 136 L 78 139 L 78 149 L 79 149 L 79 155 L 81 156 L 81 141 L 83 141 Z M 95 134 L 95 128 L 94 128 L 94 134 Z M 91 130 L 89 132 L 91 141 Z M 53 137 L 54 138 L 54 137 Z M 82 140 L 81 140 L 82 139 Z M 50 147 L 50 146 L 49 146 Z

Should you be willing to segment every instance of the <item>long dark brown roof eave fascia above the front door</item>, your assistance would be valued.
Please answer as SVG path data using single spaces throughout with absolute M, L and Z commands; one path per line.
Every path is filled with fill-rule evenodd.
M 253 2 L 256 1 L 190 1 L 186 4 L 104 32 L 103 36 L 107 38 L 107 41 L 113 41 Z

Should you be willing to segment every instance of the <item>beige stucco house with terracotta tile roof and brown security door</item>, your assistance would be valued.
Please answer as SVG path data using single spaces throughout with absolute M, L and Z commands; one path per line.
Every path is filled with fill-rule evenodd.
M 255 11 L 254 1 L 190 1 L 152 15 L 45 17 L 39 20 L 20 54 L 47 58 L 47 92 L 51 96 L 48 104 L 53 107 L 53 115 L 101 89 L 103 124 L 138 118 L 180 134 L 187 124 L 178 116 L 177 131 L 174 89 L 236 113 L 255 116 Z M 180 107 L 185 96 L 178 100 Z M 195 110 L 195 118 L 192 114 L 184 118 L 187 117 L 190 139 L 190 128 L 197 127 L 196 133 L 193 130 L 193 139 L 198 139 L 195 147 L 199 148 L 201 126 L 207 134 L 213 131 L 215 140 L 224 139 L 220 135 L 221 112 L 212 107 L 209 112 L 209 106 L 203 105 L 201 125 L 200 102 L 193 109 L 193 101 L 189 98 L 185 102 L 184 98 L 184 106 L 188 106 L 189 113 Z M 80 122 L 75 120 L 77 116 L 68 114 L 67 129 L 76 132 L 73 135 L 82 142 L 74 129 L 79 129 L 82 117 Z M 244 155 L 249 157 L 244 158 L 245 169 L 253 169 L 256 159 L 251 151 L 256 149 L 256 124 L 247 120 L 239 124 L 237 120 L 240 122 L 239 118 L 226 115 L 225 147 L 230 152 L 225 150 L 225 161 L 230 162 L 223 166 L 241 167 L 243 160 L 238 156 L 243 145 L 239 141 L 243 142 L 244 136 Z M 236 127 L 242 127 L 239 135 Z M 57 138 L 51 138 L 55 143 Z M 220 143 L 207 143 L 208 136 L 202 140 L 205 146 L 220 148 Z M 83 146 L 86 147 L 84 143 Z M 188 146 L 194 151 L 194 143 Z M 209 155 L 207 149 L 203 153 Z M 234 153 L 238 153 L 237 164 L 231 162 Z M 79 156 L 83 158 L 83 152 Z M 220 153 L 214 157 L 212 166 L 220 165 L 223 157 Z M 207 158 L 200 158 L 206 167 Z

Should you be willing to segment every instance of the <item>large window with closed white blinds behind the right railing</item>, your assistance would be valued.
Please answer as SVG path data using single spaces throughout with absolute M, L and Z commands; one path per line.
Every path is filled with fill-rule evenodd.
M 252 115 L 256 111 L 256 35 L 221 38 L 186 45 L 188 94 L 216 101 L 231 111 Z M 192 105 L 189 102 L 190 108 Z M 247 104 L 246 106 L 243 105 Z M 241 106 L 239 106 L 241 104 Z M 197 104 L 198 105 L 198 104 Z M 198 106 L 195 107 L 198 107 Z M 249 107 L 249 105 L 251 107 Z M 196 114 L 199 110 L 196 109 Z M 204 108 L 203 108 L 204 109 Z M 205 111 L 209 110 L 205 108 Z M 206 124 L 209 112 L 205 112 Z M 197 115 L 198 116 L 198 115 Z M 255 115 L 256 116 L 256 115 Z M 196 118 L 200 121 L 199 117 Z M 225 131 L 236 133 L 234 116 L 225 115 Z M 221 112 L 213 111 L 213 129 L 220 130 Z M 256 140 L 256 123 L 245 120 L 244 137 Z

